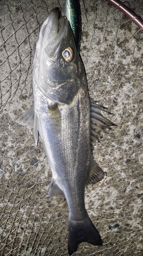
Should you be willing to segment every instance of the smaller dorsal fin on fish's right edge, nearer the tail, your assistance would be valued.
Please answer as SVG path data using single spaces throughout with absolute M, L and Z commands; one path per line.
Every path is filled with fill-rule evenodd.
M 97 162 L 91 157 L 90 161 L 90 173 L 89 173 L 89 178 L 85 186 L 87 187 L 89 184 L 95 184 L 102 180 L 104 178 L 104 172 L 103 170 L 99 167 Z

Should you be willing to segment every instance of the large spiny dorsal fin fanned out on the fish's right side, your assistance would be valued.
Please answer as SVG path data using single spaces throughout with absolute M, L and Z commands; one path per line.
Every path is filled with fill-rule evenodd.
M 106 133 L 111 129 L 111 125 L 116 125 L 112 123 L 107 118 L 103 117 L 101 111 L 106 112 L 111 115 L 110 112 L 106 111 L 104 106 L 96 104 L 96 102 L 90 99 L 91 104 L 91 145 L 94 146 L 96 143 L 100 142 L 103 137 L 103 133 Z

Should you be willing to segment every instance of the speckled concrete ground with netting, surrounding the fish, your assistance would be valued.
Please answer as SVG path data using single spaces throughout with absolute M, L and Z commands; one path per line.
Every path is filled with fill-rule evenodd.
M 142 15 L 142 0 L 126 2 Z M 90 96 L 116 124 L 95 146 L 105 178 L 85 191 L 85 206 L 103 246 L 79 245 L 75 255 L 143 253 L 143 34 L 105 0 L 80 1 L 80 54 Z M 41 138 L 15 120 L 33 104 L 32 63 L 42 23 L 64 1 L 2 0 L 1 204 L 2 256 L 68 255 L 68 206 L 48 200 L 51 172 Z M 143 16 L 142 16 L 143 18 Z

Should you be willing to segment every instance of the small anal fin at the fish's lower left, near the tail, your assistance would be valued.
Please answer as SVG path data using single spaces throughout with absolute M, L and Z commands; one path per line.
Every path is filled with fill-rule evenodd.
M 51 179 L 51 182 L 47 188 L 49 191 L 49 199 L 53 198 L 53 197 L 65 197 L 63 191 L 61 190 L 61 188 L 58 186 L 58 184 L 56 184 L 56 181 Z

